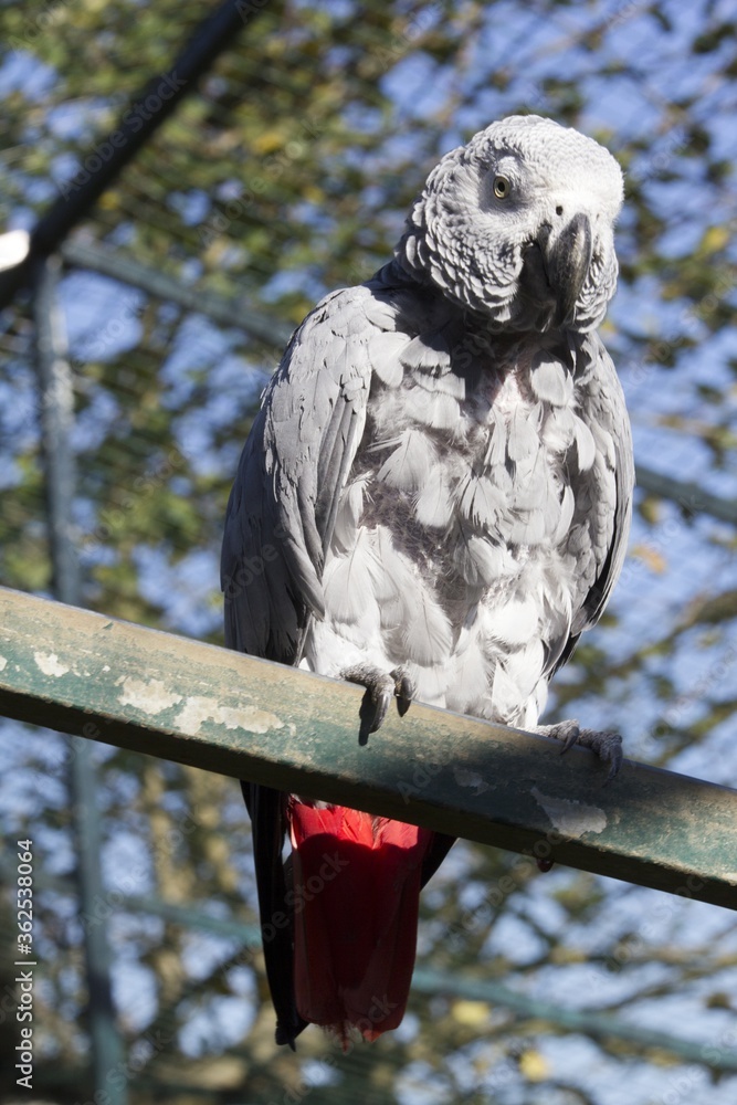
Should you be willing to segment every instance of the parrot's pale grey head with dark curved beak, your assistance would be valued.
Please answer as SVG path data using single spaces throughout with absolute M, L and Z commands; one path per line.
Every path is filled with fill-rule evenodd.
M 583 333 L 617 286 L 622 193 L 619 165 L 592 138 L 513 115 L 435 166 L 397 256 L 494 329 Z

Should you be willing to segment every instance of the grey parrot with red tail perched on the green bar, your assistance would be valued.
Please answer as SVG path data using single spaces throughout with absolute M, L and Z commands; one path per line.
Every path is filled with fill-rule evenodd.
M 227 643 L 365 686 L 362 741 L 418 698 L 619 766 L 618 736 L 538 718 L 630 526 L 629 420 L 596 333 L 621 202 L 592 139 L 492 124 L 432 170 L 393 261 L 305 318 L 264 392 L 228 507 Z M 452 838 L 243 791 L 277 1041 L 396 1028 Z

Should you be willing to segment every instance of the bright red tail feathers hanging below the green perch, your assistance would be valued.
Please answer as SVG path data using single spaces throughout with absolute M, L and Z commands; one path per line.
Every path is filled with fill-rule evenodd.
M 432 832 L 341 806 L 292 799 L 297 1009 L 345 1042 L 404 1015 L 422 860 Z

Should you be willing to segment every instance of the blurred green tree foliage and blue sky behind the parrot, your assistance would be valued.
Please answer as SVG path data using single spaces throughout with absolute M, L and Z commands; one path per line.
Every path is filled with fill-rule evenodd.
M 73 187 L 214 7 L 0 8 L 0 225 L 31 227 Z M 734 497 L 733 4 L 253 0 L 243 18 L 240 38 L 76 241 L 296 325 L 326 291 L 387 260 L 440 154 L 514 112 L 579 126 L 627 170 L 621 292 L 604 336 L 639 460 Z M 227 496 L 278 349 L 88 272 L 67 271 L 60 294 L 85 601 L 220 641 Z M 0 581 L 43 592 L 30 297 L 0 315 Z M 557 708 L 619 726 L 633 756 L 735 785 L 734 545 L 731 527 L 688 503 L 641 494 L 607 624 L 564 674 Z M 96 916 L 80 918 L 64 743 L 6 728 L 22 737 L 4 754 L 6 836 L 30 834 L 39 853 L 40 1094 L 91 1099 L 81 939 L 85 924 L 105 924 L 129 1061 L 117 1075 L 144 1105 L 164 1095 L 182 1105 L 734 1101 L 734 1078 L 709 1082 L 677 1055 L 560 1035 L 547 1019 L 452 992 L 414 994 L 402 1030 L 371 1048 L 344 1056 L 310 1030 L 297 1056 L 277 1051 L 261 955 L 222 924 L 256 924 L 232 782 L 101 751 L 107 894 Z M 166 902 L 168 913 L 126 895 Z M 431 884 L 420 961 L 561 1006 L 627 1009 L 717 1052 L 735 1044 L 729 916 L 558 867 L 540 876 L 491 849 L 456 846 Z

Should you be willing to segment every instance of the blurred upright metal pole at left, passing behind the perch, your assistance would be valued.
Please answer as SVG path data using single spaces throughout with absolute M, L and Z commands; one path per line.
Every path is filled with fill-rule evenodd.
M 36 371 L 41 409 L 41 436 L 53 566 L 53 590 L 62 602 L 80 603 L 80 562 L 74 540 L 72 507 L 76 485 L 72 430 L 74 381 L 67 358 L 66 333 L 56 298 L 61 259 L 38 262 L 33 301 Z M 86 740 L 69 743 L 69 788 L 76 843 L 76 882 L 84 929 L 84 958 L 88 990 L 88 1031 L 95 1099 L 126 1105 L 124 1078 L 108 1074 L 123 1069 L 123 1045 L 115 1020 L 110 986 L 110 951 L 105 926 L 90 924 L 103 897 L 99 862 L 102 824 L 97 808 L 95 765 Z M 104 1096 L 103 1096 L 104 1095 Z

